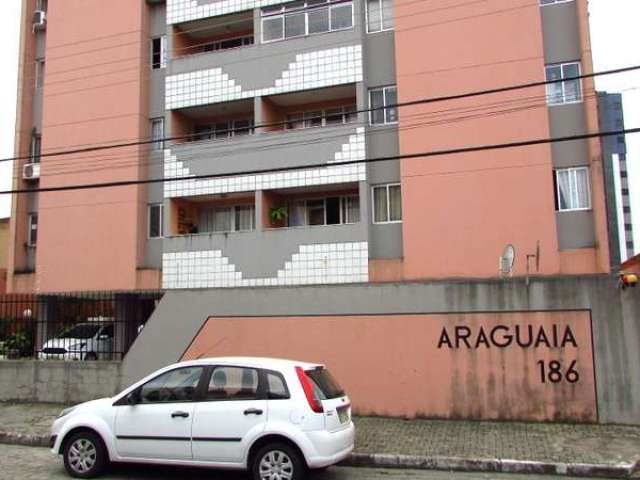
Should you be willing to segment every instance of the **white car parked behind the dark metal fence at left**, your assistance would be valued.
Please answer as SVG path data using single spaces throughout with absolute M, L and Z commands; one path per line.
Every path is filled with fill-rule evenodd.
M 113 351 L 112 322 L 78 323 L 42 345 L 41 360 L 110 360 Z

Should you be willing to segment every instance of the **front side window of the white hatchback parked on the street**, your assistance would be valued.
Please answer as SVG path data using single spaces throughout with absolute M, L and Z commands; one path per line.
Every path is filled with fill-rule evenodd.
M 140 403 L 192 401 L 203 371 L 202 367 L 185 367 L 163 373 L 140 388 Z

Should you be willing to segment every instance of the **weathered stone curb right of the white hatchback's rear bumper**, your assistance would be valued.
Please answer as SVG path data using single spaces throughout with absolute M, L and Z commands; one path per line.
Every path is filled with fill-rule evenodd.
M 587 464 L 534 462 L 498 458 L 427 457 L 415 455 L 354 453 L 341 465 L 350 467 L 403 468 L 458 472 L 520 473 L 568 477 L 631 478 L 639 464 Z

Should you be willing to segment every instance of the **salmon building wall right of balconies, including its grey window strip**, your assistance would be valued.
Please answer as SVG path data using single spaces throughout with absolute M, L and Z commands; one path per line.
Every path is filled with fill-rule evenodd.
M 464 11 L 452 2 L 440 3 L 443 8 L 434 9 L 427 27 L 420 15 L 423 5 L 396 4 L 401 102 L 495 88 L 496 79 L 505 86 L 536 82 L 544 78 L 546 63 L 560 60 L 581 60 L 583 71 L 590 71 L 586 1 L 550 7 L 532 2 L 514 8 L 501 0 Z M 545 35 L 556 31 L 553 22 L 561 22 L 570 34 Z M 422 44 L 448 48 L 415 48 Z M 592 87 L 585 82 L 583 90 L 586 95 Z M 541 87 L 404 108 L 400 151 L 547 138 L 563 128 L 565 134 L 583 133 L 592 130 L 593 105 L 593 100 L 580 104 L 567 121 L 576 108 L 548 107 Z M 420 115 L 429 121 L 409 128 Z M 574 160 L 568 160 L 567 152 Z M 607 240 L 602 236 L 606 225 L 598 152 L 595 142 L 403 160 L 405 278 L 495 276 L 508 244 L 516 250 L 514 275 L 526 272 L 526 255 L 534 254 L 538 244 L 537 273 L 607 271 L 601 255 Z M 563 161 L 592 167 L 594 207 L 587 215 L 555 214 L 552 174 Z M 566 255 L 572 260 L 563 261 Z M 573 261 L 576 256 L 579 262 Z

